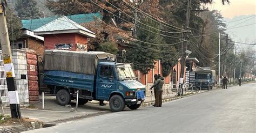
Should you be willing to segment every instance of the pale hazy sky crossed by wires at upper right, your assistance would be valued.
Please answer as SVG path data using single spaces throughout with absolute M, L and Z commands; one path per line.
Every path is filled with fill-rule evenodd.
M 221 0 L 215 0 L 208 5 L 209 10 L 218 10 L 227 21 L 227 33 L 234 41 L 255 43 L 256 41 L 256 0 L 230 0 L 230 4 L 223 5 Z M 254 17 L 250 17 L 254 16 Z M 250 17 L 250 18 L 247 18 Z M 247 19 L 246 19 L 247 18 Z M 242 20 L 240 20 L 242 19 Z M 238 21 L 236 21 L 238 20 Z M 232 22 L 235 21 L 235 22 Z M 230 23 L 231 22 L 231 23 Z M 254 24 L 254 25 L 250 25 Z M 245 26 L 249 25 L 249 26 Z M 243 27 L 239 27 L 243 26 Z M 238 28 L 233 28 L 238 27 Z

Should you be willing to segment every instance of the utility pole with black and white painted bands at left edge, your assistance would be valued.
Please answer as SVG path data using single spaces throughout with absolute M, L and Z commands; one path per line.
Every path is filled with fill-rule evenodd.
M 18 91 L 15 85 L 14 64 L 12 63 L 12 55 L 10 48 L 10 40 L 8 28 L 6 24 L 6 1 L 0 0 L 0 36 L 1 46 L 3 50 L 4 70 L 6 72 L 6 83 L 8 87 L 9 102 L 11 109 L 11 117 L 21 119 L 21 111 L 19 109 Z

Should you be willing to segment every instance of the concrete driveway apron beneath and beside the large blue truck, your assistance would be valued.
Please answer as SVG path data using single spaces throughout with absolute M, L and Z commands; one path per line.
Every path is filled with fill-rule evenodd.
M 30 119 L 51 123 L 101 112 L 110 112 L 109 105 L 99 106 L 97 102 L 88 102 L 85 105 L 79 105 L 77 112 L 70 112 L 71 108 L 76 108 L 76 101 L 71 102 L 71 107 L 65 107 L 58 105 L 56 97 L 51 96 L 44 98 L 44 109 L 42 109 L 41 97 L 40 102 L 31 105 L 30 108 L 21 108 L 21 114 L 22 117 L 29 117 Z M 5 107 L 4 112 L 5 114 L 10 114 L 10 108 Z

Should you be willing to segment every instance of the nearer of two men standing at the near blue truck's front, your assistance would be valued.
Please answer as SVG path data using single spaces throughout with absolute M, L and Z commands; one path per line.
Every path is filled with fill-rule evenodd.
M 161 77 L 158 75 L 158 79 L 156 83 L 154 83 L 153 86 L 151 86 L 150 90 L 152 90 L 153 87 L 156 87 L 156 106 L 154 107 L 161 107 L 162 106 L 162 94 L 163 94 L 163 85 L 164 85 L 164 77 Z

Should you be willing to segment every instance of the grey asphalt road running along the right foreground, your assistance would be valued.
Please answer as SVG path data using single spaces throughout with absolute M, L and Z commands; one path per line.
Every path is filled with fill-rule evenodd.
M 256 83 L 30 132 L 256 132 Z

